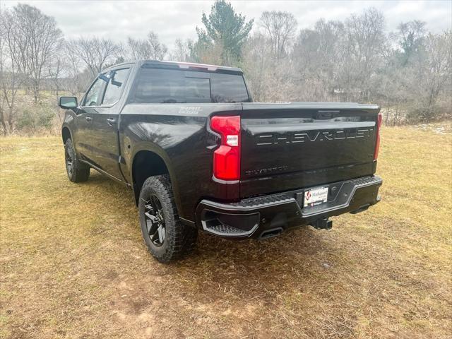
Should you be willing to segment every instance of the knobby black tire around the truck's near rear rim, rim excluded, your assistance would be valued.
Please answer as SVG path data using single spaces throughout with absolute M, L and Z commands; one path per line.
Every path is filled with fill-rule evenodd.
M 160 246 L 156 246 L 150 239 L 146 225 L 145 205 L 151 196 L 157 196 L 161 205 L 161 212 L 165 220 L 165 239 Z M 143 184 L 138 203 L 141 232 L 145 245 L 150 254 L 161 263 L 168 263 L 181 258 L 196 246 L 198 230 L 184 225 L 177 215 L 176 204 L 172 193 L 172 186 L 167 175 L 149 177 Z

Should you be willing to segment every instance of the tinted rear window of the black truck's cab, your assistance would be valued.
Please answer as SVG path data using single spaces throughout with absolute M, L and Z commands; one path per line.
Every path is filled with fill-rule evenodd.
M 239 74 L 141 69 L 129 102 L 249 102 L 249 96 Z

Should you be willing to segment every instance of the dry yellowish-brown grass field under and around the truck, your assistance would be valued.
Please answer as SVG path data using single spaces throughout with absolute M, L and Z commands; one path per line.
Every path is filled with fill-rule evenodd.
M 384 128 L 382 201 L 169 266 L 131 191 L 66 178 L 60 138 L 0 138 L 0 338 L 451 338 L 452 133 Z

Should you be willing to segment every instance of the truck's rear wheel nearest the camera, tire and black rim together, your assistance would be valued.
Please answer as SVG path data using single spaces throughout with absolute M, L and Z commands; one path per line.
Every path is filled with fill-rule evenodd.
M 167 176 L 146 179 L 138 210 L 144 242 L 158 261 L 167 263 L 194 248 L 198 232 L 179 220 Z

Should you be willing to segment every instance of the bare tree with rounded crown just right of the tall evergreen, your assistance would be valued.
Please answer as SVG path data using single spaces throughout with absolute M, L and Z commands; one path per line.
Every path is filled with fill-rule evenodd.
M 288 12 L 265 11 L 261 15 L 259 24 L 270 39 L 275 59 L 280 60 L 287 56 L 297 29 L 295 16 Z

